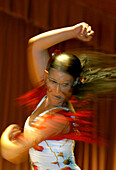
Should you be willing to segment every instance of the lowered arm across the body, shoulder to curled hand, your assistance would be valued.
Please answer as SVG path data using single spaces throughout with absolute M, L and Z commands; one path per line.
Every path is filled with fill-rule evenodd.
M 55 113 L 52 116 L 38 117 L 33 125 L 25 128 L 23 133 L 11 140 L 10 136 L 17 133 L 19 129 L 18 125 L 10 125 L 1 136 L 1 155 L 4 159 L 15 164 L 26 159 L 31 147 L 35 147 L 49 138 L 68 133 L 70 126 L 64 116 Z

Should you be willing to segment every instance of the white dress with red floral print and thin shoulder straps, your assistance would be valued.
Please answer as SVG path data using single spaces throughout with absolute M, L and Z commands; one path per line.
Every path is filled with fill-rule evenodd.
M 37 108 L 42 104 L 45 98 L 46 96 L 38 104 Z M 62 108 L 68 110 L 67 108 Z M 41 113 L 39 116 L 46 114 L 50 110 Z M 25 129 L 28 128 L 28 126 L 29 117 L 26 120 Z M 74 144 L 75 142 L 73 140 L 68 139 L 46 140 L 41 142 L 39 146 L 44 148 L 43 151 L 38 151 L 34 148 L 29 150 L 32 169 L 34 169 L 34 165 L 38 170 L 61 170 L 62 168 L 66 167 L 70 167 L 71 170 L 80 170 L 80 168 L 75 163 L 73 152 Z

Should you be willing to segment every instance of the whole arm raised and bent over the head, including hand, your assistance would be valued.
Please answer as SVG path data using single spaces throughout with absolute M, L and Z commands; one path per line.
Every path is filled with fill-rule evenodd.
M 83 22 L 71 27 L 48 31 L 31 38 L 28 47 L 28 66 L 33 85 L 44 78 L 44 70 L 49 60 L 47 51 L 49 47 L 73 38 L 90 41 L 93 33 L 91 26 Z

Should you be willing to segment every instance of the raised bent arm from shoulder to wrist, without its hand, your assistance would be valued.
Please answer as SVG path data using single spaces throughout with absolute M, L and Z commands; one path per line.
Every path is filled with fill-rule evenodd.
M 28 66 L 33 85 L 44 78 L 44 70 L 49 60 L 48 48 L 71 38 L 74 38 L 73 27 L 45 32 L 29 40 Z

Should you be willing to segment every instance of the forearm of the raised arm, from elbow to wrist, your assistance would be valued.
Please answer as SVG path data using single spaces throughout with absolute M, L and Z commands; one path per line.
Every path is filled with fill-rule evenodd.
M 44 50 L 57 43 L 68 39 L 76 38 L 74 27 L 60 28 L 39 34 L 29 40 L 29 43 L 34 43 L 37 49 Z

